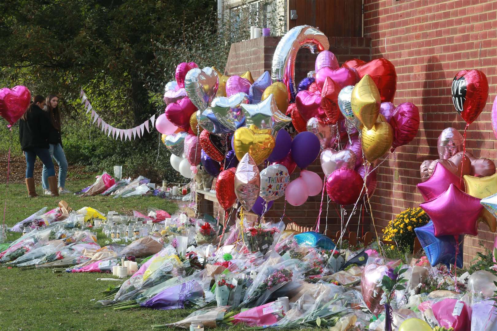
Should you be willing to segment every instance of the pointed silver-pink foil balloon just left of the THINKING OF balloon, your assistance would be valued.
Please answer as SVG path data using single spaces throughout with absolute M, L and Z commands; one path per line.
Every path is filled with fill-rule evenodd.
M 257 164 L 246 153 L 235 172 L 235 194 L 246 210 L 250 210 L 260 192 L 260 174 Z

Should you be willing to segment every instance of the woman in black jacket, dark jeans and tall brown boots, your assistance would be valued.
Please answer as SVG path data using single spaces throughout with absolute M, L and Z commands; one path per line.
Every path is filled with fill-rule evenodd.
M 52 196 L 59 196 L 54 163 L 48 149 L 51 123 L 47 113 L 43 111 L 44 107 L 45 98 L 41 95 L 36 95 L 31 106 L 29 106 L 19 121 L 19 141 L 26 157 L 26 187 L 30 198 L 38 197 L 33 178 L 36 156 L 47 167 L 48 183 L 50 191 L 52 191 Z

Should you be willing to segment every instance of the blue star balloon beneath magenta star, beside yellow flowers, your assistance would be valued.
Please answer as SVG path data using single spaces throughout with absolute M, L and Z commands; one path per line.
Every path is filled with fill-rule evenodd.
M 431 220 L 428 224 L 415 228 L 414 232 L 432 266 L 443 263 L 448 267 L 456 262 L 457 267 L 463 267 L 463 235 L 460 235 L 458 239 L 459 250 L 456 259 L 455 236 L 435 237 L 435 227 Z

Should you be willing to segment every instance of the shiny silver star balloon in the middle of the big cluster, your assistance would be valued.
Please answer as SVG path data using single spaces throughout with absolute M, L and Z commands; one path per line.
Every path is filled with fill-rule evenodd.
M 278 110 L 276 100 L 272 94 L 255 105 L 241 104 L 246 118 L 246 125 L 255 125 L 258 129 L 271 129 L 271 134 L 276 133 L 289 124 L 292 119 Z

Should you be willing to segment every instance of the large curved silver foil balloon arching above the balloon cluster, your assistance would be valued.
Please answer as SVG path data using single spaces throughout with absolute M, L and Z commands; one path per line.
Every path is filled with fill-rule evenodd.
M 309 48 L 312 53 L 330 48 L 326 35 L 315 27 L 299 25 L 290 29 L 279 41 L 274 51 L 271 66 L 273 81 L 282 81 L 291 101 L 295 100 L 295 60 L 300 48 Z

